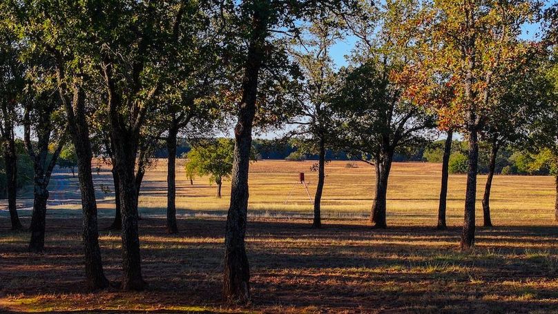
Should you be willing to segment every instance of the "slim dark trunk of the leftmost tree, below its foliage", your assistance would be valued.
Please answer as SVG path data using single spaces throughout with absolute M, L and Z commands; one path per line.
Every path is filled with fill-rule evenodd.
M 4 152 L 4 161 L 6 162 L 6 180 L 8 192 L 8 211 L 10 212 L 10 221 L 12 222 L 12 230 L 22 230 L 19 215 L 17 215 L 16 197 L 17 197 L 17 153 L 15 151 L 15 142 L 13 137 L 8 139 Z

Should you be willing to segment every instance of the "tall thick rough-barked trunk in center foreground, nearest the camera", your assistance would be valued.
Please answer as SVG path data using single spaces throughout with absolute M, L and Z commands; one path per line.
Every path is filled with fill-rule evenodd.
M 269 3 L 268 3 L 269 4 Z M 248 170 L 252 145 L 252 124 L 256 115 L 258 77 L 267 36 L 267 13 L 260 8 L 252 13 L 251 38 L 242 79 L 242 99 L 238 108 L 238 123 L 234 129 L 235 147 L 231 175 L 231 203 L 225 230 L 223 296 L 229 303 L 250 302 L 250 271 L 244 235 L 248 213 Z

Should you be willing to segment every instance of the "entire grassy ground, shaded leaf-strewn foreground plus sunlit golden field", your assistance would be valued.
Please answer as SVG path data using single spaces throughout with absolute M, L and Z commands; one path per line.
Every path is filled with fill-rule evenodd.
M 215 186 L 208 179 L 195 179 L 191 186 L 179 171 L 180 233 L 166 235 L 166 165 L 157 161 L 146 175 L 140 199 L 142 268 L 148 289 L 124 293 L 113 287 L 89 293 L 83 286 L 77 186 L 70 174 L 56 173 L 45 254 L 26 253 L 28 233 L 10 232 L 6 210 L 0 210 L 0 313 L 558 312 L 552 177 L 495 177 L 496 227 L 479 226 L 477 248 L 462 253 L 463 175 L 450 177 L 450 229 L 441 232 L 434 229 L 440 165 L 395 164 L 389 181 L 389 228 L 376 230 L 367 220 L 374 170 L 359 163 L 331 162 L 325 226 L 316 230 L 310 228 L 307 193 L 296 183 L 298 172 L 305 171 L 313 194 L 312 164 L 251 165 L 247 250 L 253 303 L 243 308 L 226 306 L 220 297 L 229 186 L 224 186 L 222 199 L 215 199 Z M 479 199 L 484 179 L 479 177 Z M 103 262 L 107 277 L 116 284 L 120 239 L 105 229 L 113 215 L 113 196 L 102 191 L 110 186 L 110 173 L 103 167 L 95 180 Z M 30 204 L 21 202 L 26 225 Z

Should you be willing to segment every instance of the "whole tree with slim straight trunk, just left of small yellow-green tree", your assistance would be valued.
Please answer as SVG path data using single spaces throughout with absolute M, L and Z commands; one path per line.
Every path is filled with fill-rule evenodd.
M 180 133 L 189 137 L 206 137 L 211 124 L 222 115 L 215 92 L 218 85 L 215 81 L 222 77 L 222 56 L 218 50 L 219 32 L 206 30 L 209 20 L 202 8 L 198 8 L 198 12 L 189 14 L 189 23 L 177 25 L 173 33 L 173 40 L 177 41 L 175 53 L 180 55 L 180 51 L 189 51 L 189 55 L 186 58 L 169 58 L 169 67 L 172 69 L 166 77 L 169 86 L 161 97 L 163 106 L 160 115 L 166 117 L 161 120 L 166 124 L 164 140 L 168 153 L 167 233 L 178 232 L 175 204 L 177 137 Z M 179 34 L 182 35 L 178 37 Z

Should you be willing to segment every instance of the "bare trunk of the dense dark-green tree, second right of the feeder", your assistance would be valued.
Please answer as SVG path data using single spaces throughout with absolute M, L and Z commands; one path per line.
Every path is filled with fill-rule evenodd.
M 387 179 L 389 179 L 389 170 L 392 168 L 392 159 L 393 153 L 383 153 L 374 163 L 376 168 L 376 195 L 372 205 L 372 215 L 370 216 L 371 222 L 374 223 L 374 228 L 387 228 L 385 219 Z

